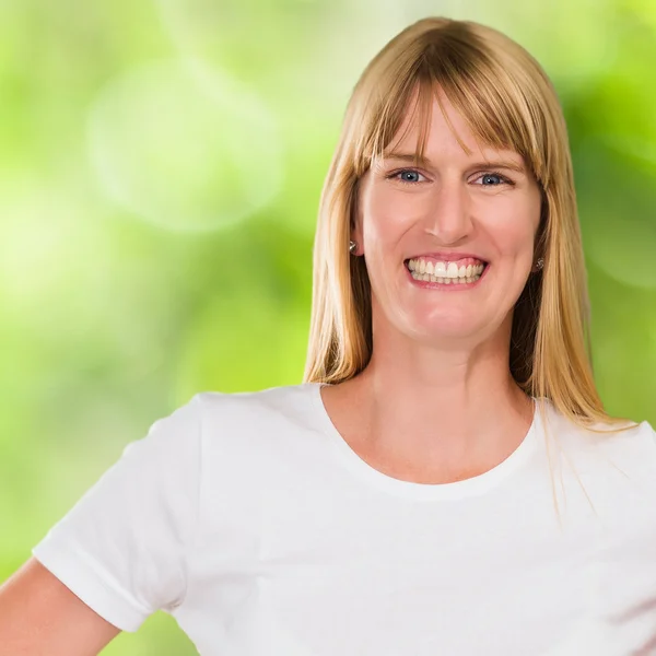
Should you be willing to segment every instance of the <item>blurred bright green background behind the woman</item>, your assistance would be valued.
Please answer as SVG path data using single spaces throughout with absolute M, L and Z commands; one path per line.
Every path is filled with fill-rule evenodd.
M 652 0 L 0 2 L 0 581 L 196 391 L 301 382 L 349 93 L 426 15 L 497 27 L 553 79 L 599 389 L 656 425 Z M 104 653 L 196 652 L 160 612 Z

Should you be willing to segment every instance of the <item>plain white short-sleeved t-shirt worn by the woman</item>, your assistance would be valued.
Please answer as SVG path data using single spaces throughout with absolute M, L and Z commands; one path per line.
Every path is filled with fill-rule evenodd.
M 412 483 L 349 447 L 319 388 L 196 396 L 33 554 L 125 631 L 164 609 L 202 656 L 656 653 L 648 423 L 599 437 L 546 402 L 490 471 Z

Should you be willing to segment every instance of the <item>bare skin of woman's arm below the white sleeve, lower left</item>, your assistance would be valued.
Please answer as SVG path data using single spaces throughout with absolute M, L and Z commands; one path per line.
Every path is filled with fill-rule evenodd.
M 0 656 L 93 656 L 118 633 L 34 558 L 0 586 Z

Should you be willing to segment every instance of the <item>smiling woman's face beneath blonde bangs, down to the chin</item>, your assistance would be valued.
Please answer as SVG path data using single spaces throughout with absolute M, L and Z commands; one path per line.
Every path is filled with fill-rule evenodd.
M 375 333 L 393 328 L 426 343 L 478 342 L 502 325 L 509 330 L 534 263 L 541 195 L 518 153 L 480 150 L 441 97 L 471 154 L 434 101 L 425 161 L 413 164 L 417 126 L 393 141 L 361 180 L 352 238 L 366 261 Z

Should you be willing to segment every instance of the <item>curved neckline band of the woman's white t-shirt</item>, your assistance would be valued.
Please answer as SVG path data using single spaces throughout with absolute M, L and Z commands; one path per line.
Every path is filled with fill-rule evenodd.
M 507 458 L 492 469 L 472 478 L 452 483 L 418 483 L 403 481 L 372 467 L 368 462 L 363 460 L 342 437 L 336 425 L 332 423 L 321 398 L 320 390 L 321 387 L 327 386 L 326 383 L 306 383 L 306 385 L 309 387 L 313 407 L 316 411 L 321 433 L 330 440 L 342 464 L 352 475 L 361 480 L 399 496 L 419 500 L 457 500 L 483 494 L 506 480 L 528 460 L 536 450 L 538 435 L 542 433 L 542 422 L 538 403 L 536 398 L 531 397 L 534 401 L 534 418 L 524 440 Z

